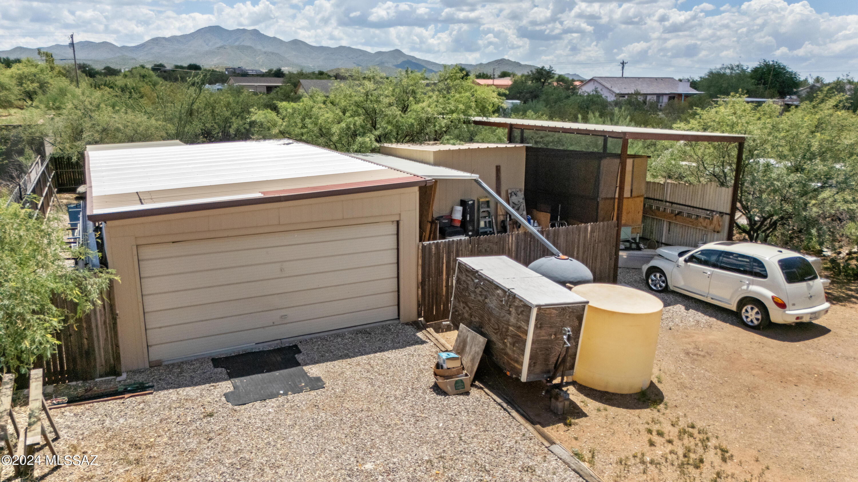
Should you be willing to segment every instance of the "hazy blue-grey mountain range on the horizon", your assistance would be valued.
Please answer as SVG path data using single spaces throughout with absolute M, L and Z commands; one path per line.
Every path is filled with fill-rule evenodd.
M 56 44 L 41 47 L 53 54 L 57 62 L 72 59 L 69 45 Z M 193 33 L 155 37 L 139 45 L 114 45 L 110 42 L 82 41 L 75 44 L 78 63 L 89 63 L 96 68 L 110 65 L 113 68 L 129 68 L 136 65 L 150 66 L 153 63 L 166 65 L 197 63 L 203 67 L 245 67 L 245 69 L 329 70 L 335 68 L 376 66 L 385 74 L 394 74 L 399 69 L 426 69 L 437 72 L 441 63 L 408 55 L 398 49 L 370 52 L 347 46 L 325 47 L 310 45 L 299 39 L 283 40 L 271 37 L 256 29 L 236 28 L 227 30 L 219 26 L 203 27 Z M 37 49 L 15 47 L 0 51 L 0 57 L 31 57 L 38 59 Z M 496 74 L 508 70 L 525 74 L 535 65 L 518 63 L 507 58 L 498 58 L 486 63 L 459 63 L 476 74 Z M 566 74 L 571 76 L 574 74 Z M 579 77 L 578 75 L 574 75 Z

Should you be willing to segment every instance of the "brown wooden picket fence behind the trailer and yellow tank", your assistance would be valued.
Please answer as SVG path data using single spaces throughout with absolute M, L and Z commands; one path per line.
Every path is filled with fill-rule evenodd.
M 613 281 L 613 263 L 618 250 L 616 221 L 555 227 L 542 234 L 561 253 L 583 262 L 593 272 L 595 282 Z M 509 256 L 527 266 L 550 254 L 529 232 L 420 243 L 420 316 L 426 322 L 450 317 L 457 258 Z

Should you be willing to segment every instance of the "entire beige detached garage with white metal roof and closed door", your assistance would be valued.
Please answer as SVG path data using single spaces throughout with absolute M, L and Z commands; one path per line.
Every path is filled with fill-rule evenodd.
M 123 370 L 417 318 L 418 187 L 289 140 L 91 147 Z

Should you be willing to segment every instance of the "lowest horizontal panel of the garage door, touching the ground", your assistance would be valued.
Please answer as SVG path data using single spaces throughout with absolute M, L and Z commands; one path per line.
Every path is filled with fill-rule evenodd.
M 239 333 L 218 334 L 202 339 L 180 340 L 163 345 L 149 346 L 150 360 L 169 360 L 172 358 L 188 357 L 196 354 L 213 352 L 233 346 L 243 346 L 267 340 L 280 340 L 303 334 L 317 333 L 331 329 L 348 328 L 371 322 L 395 319 L 396 306 L 376 308 L 373 310 L 348 313 L 347 315 L 331 316 L 290 323 L 265 328 L 251 329 Z

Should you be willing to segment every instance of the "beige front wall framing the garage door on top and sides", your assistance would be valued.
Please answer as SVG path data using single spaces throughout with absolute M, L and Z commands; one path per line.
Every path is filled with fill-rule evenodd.
M 107 221 L 107 260 L 122 281 L 115 285 L 122 370 L 149 365 L 137 246 L 395 220 L 399 224 L 400 320 L 412 322 L 417 319 L 419 282 L 417 219 L 414 187 Z

